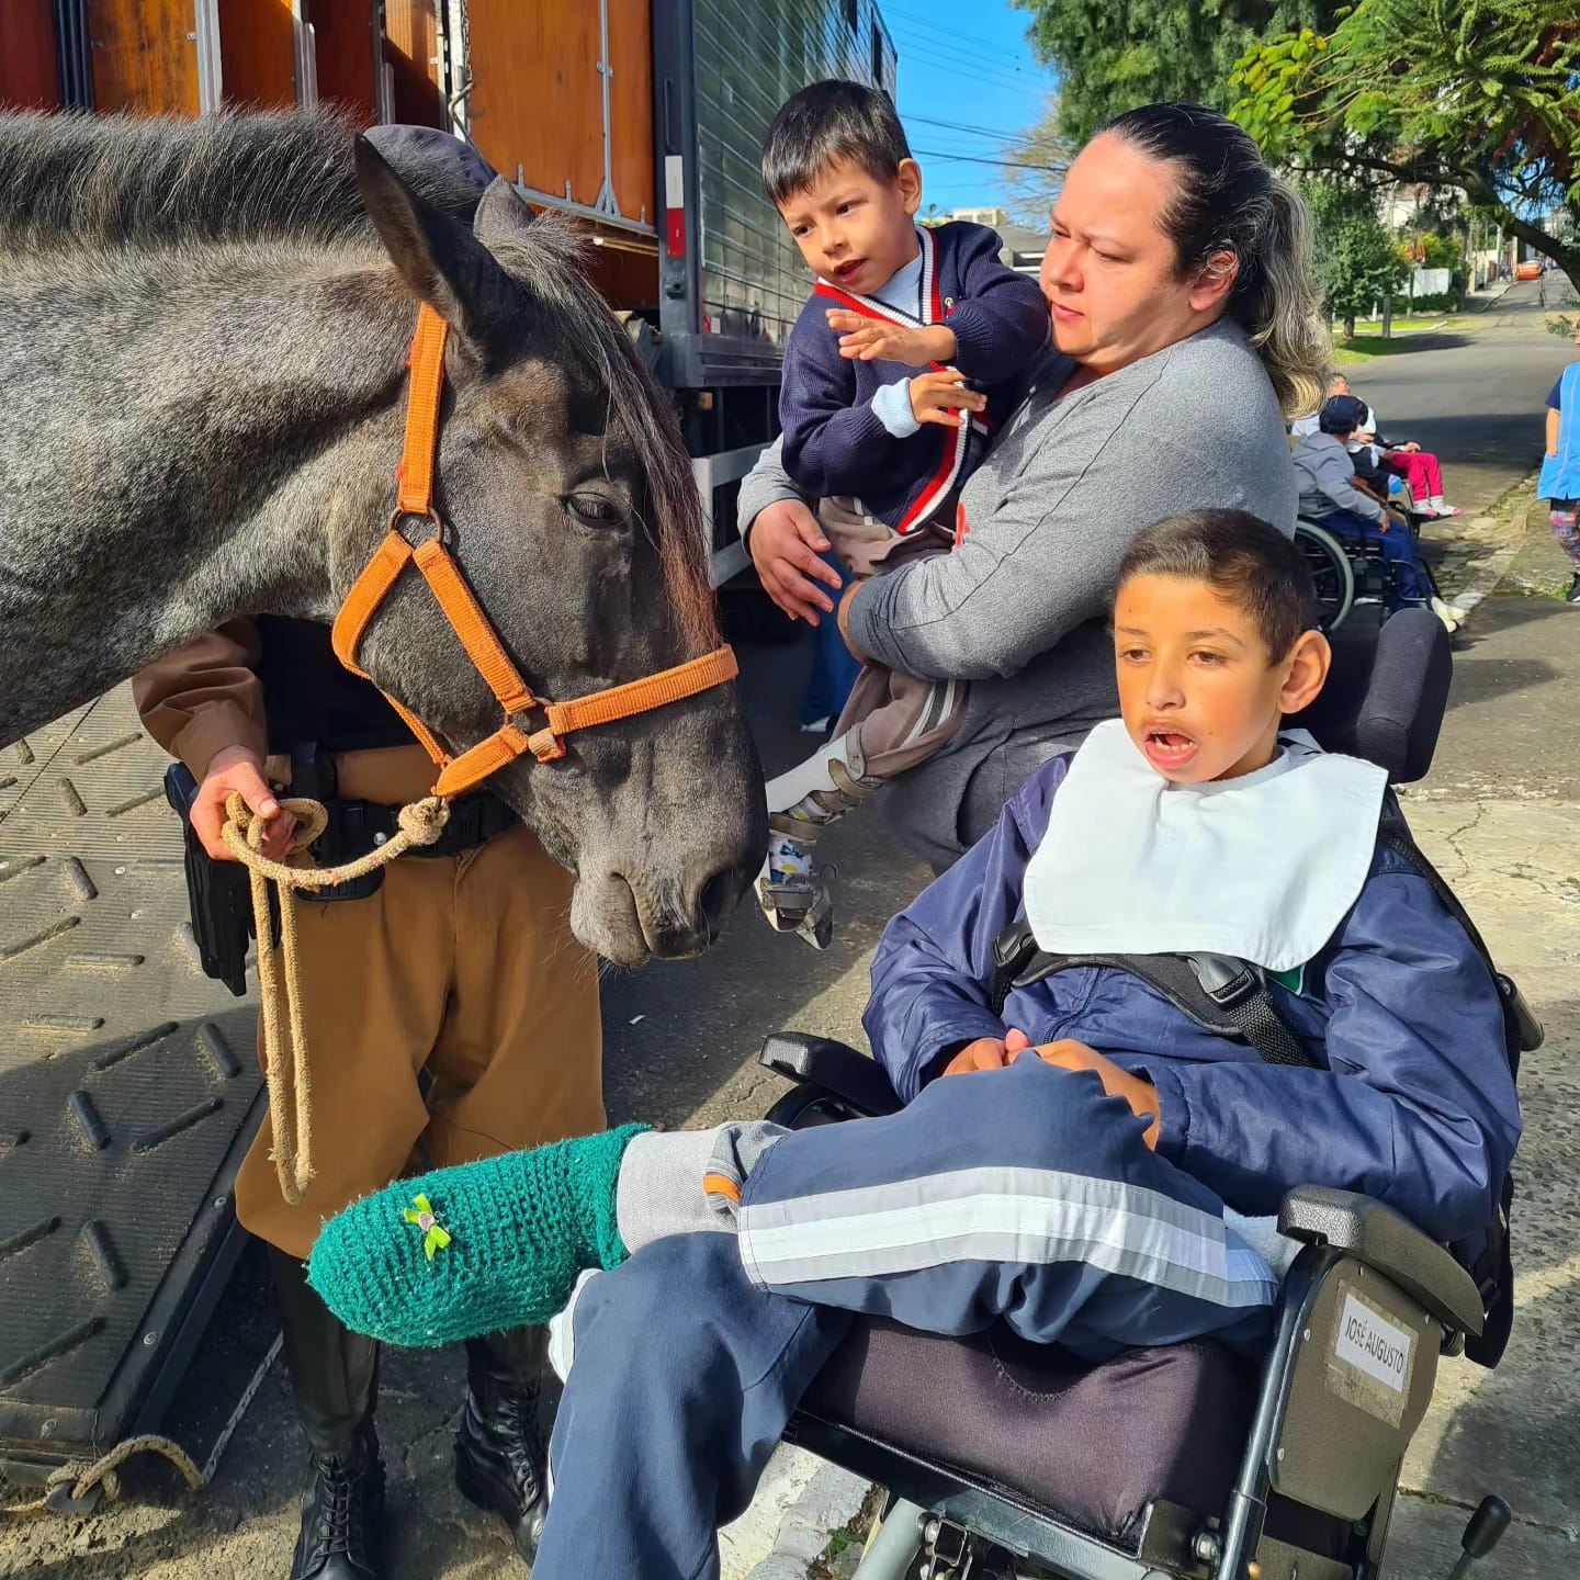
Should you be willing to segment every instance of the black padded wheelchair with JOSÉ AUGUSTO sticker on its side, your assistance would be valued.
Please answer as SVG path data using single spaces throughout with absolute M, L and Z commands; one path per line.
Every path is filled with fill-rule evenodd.
M 1441 623 L 1403 610 L 1373 643 L 1346 643 L 1318 705 L 1292 722 L 1408 784 L 1431 763 L 1449 670 Z M 1517 1068 L 1540 1027 L 1512 983 L 1498 986 Z M 796 1082 L 768 1115 L 790 1128 L 899 1106 L 882 1068 L 844 1043 L 779 1032 L 760 1062 Z M 1504 1224 L 1507 1202 L 1506 1190 Z M 886 1488 L 858 1580 L 1384 1574 L 1398 1471 L 1438 1357 L 1469 1341 L 1493 1365 L 1507 1338 L 1507 1240 L 1495 1291 L 1392 1209 L 1348 1191 L 1291 1191 L 1278 1231 L 1302 1248 L 1259 1368 L 1210 1338 L 1089 1367 L 1003 1324 L 942 1338 L 858 1319 L 787 1430 Z M 1392 1390 L 1375 1365 L 1354 1364 L 1357 1338 L 1371 1357 L 1394 1346 L 1403 1379 Z M 1484 1499 L 1454 1577 L 1509 1518 L 1499 1498 Z

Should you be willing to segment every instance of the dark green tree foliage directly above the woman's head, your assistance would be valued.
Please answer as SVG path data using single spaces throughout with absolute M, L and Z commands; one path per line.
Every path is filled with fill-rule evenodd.
M 1256 43 L 1326 30 L 1338 0 L 1014 0 L 1032 49 L 1059 73 L 1057 133 L 1079 149 L 1120 111 L 1188 100 L 1228 112 L 1236 62 Z

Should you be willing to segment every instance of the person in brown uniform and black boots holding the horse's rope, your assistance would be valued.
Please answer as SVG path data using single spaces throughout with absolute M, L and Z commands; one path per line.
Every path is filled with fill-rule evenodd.
M 433 781 L 427 752 L 368 681 L 340 667 L 324 626 L 234 623 L 144 670 L 133 690 L 149 733 L 198 779 L 193 826 L 220 860 L 231 860 L 218 836 L 231 792 L 264 817 L 272 785 L 325 801 L 327 860 L 346 861 L 392 834 L 395 809 Z M 291 818 L 272 822 L 265 848 L 278 856 Z M 515 815 L 477 792 L 457 799 L 438 845 L 297 902 L 318 1172 L 288 1206 L 265 1119 L 235 1183 L 237 1217 L 269 1242 L 311 1454 L 291 1580 L 382 1574 L 378 1345 L 307 1285 L 322 1221 L 408 1169 L 605 1123 L 597 959 L 570 934 L 570 891 Z M 468 1343 L 455 1438 L 457 1484 L 504 1517 L 528 1561 L 547 1509 L 544 1335 L 526 1327 Z

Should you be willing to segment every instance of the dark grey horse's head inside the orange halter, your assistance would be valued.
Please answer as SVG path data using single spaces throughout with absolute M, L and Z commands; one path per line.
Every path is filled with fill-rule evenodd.
M 449 325 L 434 506 L 521 676 L 562 702 L 716 648 L 705 517 L 679 428 L 577 265 L 570 232 L 534 218 L 506 180 L 468 229 L 362 139 L 357 180 L 414 318 L 425 302 Z M 337 596 L 382 526 L 333 528 Z M 493 692 L 409 570 L 359 662 L 452 752 L 499 725 Z M 705 948 L 768 836 L 736 687 L 583 730 L 566 747 L 488 784 L 577 875 L 577 935 L 626 965 Z

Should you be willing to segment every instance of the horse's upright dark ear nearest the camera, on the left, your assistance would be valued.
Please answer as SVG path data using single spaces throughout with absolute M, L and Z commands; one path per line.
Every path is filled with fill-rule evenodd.
M 510 276 L 465 224 L 419 198 L 367 137 L 357 137 L 356 152 L 363 207 L 401 278 L 463 340 L 485 351 L 491 329 L 509 319 Z

